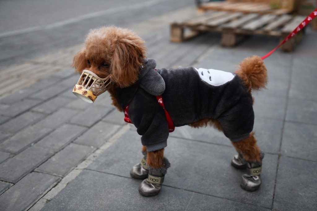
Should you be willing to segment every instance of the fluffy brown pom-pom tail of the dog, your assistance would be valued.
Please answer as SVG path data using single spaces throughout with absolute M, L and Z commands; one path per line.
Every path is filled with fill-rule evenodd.
M 240 76 L 248 88 L 257 90 L 265 88 L 268 82 L 267 69 L 259 56 L 245 58 L 240 64 L 236 74 Z

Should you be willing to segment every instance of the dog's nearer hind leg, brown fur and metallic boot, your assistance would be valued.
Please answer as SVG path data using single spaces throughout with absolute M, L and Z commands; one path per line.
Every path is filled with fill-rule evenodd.
M 247 168 L 247 174 L 242 176 L 241 187 L 248 191 L 255 191 L 260 188 L 261 185 L 261 173 L 262 173 L 262 159 L 264 153 L 260 151 L 260 148 L 256 144 L 256 139 L 253 133 L 250 133 L 249 137 L 239 142 L 232 142 L 239 155 L 233 158 L 240 160 L 239 166 L 245 164 Z M 233 165 L 235 166 L 235 165 Z M 235 166 L 236 167 L 236 166 Z M 239 168 L 239 167 L 238 167 Z

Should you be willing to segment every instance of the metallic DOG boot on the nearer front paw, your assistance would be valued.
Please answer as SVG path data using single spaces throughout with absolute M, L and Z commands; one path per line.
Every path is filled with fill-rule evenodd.
M 163 158 L 163 162 L 165 164 L 163 168 L 149 167 L 148 177 L 139 186 L 139 193 L 142 196 L 155 196 L 160 192 L 167 168 L 170 167 L 170 162 L 166 158 Z

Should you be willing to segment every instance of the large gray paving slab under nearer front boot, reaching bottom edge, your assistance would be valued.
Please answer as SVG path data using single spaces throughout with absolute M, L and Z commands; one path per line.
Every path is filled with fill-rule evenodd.
M 164 187 L 155 197 L 143 197 L 138 193 L 139 183 L 130 178 L 84 170 L 42 211 L 185 210 L 193 195 L 188 191 Z

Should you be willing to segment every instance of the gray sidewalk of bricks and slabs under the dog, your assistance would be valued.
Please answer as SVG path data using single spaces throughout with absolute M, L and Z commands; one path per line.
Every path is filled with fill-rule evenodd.
M 254 36 L 223 48 L 217 33 L 170 43 L 171 18 L 130 26 L 146 40 L 157 68 L 234 71 L 243 58 L 263 56 L 278 44 Z M 256 137 L 266 154 L 258 191 L 240 188 L 243 171 L 230 166 L 235 150 L 222 133 L 184 126 L 170 134 L 165 156 L 171 168 L 162 191 L 140 196 L 140 181 L 129 175 L 142 157 L 140 136 L 108 94 L 94 104 L 75 97 L 71 90 L 79 76 L 62 64 L 62 70 L 0 99 L 0 210 L 315 210 L 316 37 L 308 28 L 294 52 L 277 50 L 265 60 L 268 89 L 253 94 Z M 78 48 L 65 49 L 63 57 L 71 62 Z

